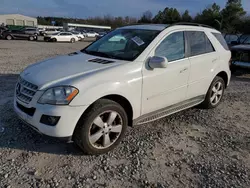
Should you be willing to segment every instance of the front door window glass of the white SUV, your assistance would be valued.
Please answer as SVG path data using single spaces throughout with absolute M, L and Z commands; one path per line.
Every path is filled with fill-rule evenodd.
M 184 32 L 176 32 L 167 36 L 156 48 L 155 55 L 166 57 L 169 62 L 184 58 Z

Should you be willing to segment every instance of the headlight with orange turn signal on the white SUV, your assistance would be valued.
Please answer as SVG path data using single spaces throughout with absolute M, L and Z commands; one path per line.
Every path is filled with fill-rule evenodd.
M 72 86 L 60 86 L 46 90 L 38 100 L 40 104 L 67 105 L 78 94 L 78 89 Z

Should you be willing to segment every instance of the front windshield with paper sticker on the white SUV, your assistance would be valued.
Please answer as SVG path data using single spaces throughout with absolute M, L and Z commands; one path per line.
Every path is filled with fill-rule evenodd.
M 133 61 L 160 33 L 155 30 L 117 29 L 92 43 L 82 52 L 113 58 Z

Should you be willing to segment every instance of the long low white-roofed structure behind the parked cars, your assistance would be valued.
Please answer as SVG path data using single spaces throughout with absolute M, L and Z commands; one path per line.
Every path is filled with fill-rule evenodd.
M 67 31 L 70 30 L 86 30 L 86 31 L 110 31 L 110 26 L 102 26 L 102 25 L 87 25 L 87 24 L 75 24 L 75 23 L 64 23 L 63 28 Z

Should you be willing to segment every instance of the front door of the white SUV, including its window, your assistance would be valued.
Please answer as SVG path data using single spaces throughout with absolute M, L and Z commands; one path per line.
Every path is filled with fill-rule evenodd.
M 190 62 L 183 31 L 169 33 L 152 55 L 168 59 L 166 68 L 143 69 L 142 115 L 186 99 Z

